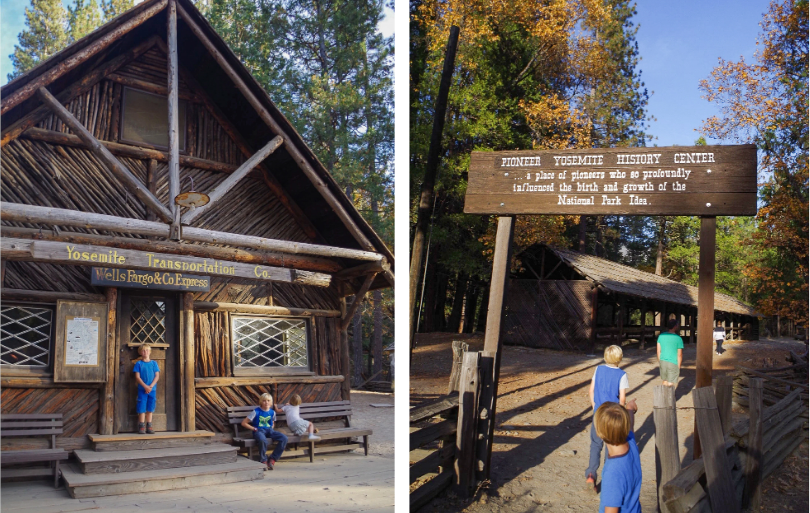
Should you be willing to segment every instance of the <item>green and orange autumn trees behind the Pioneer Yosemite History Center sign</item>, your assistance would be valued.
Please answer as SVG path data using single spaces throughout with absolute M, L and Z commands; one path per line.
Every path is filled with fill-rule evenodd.
M 470 152 L 650 145 L 638 13 L 625 0 L 410 7 L 412 240 L 445 49 L 451 25 L 460 27 L 416 329 L 481 331 L 496 218 L 463 213 Z M 762 8 L 753 61 L 721 58 L 695 84 L 719 114 L 684 143 L 757 145 L 758 215 L 718 218 L 716 289 L 806 326 L 808 3 Z M 682 216 L 518 216 L 514 253 L 547 243 L 696 285 L 699 225 Z M 512 267 L 520 270 L 519 256 Z

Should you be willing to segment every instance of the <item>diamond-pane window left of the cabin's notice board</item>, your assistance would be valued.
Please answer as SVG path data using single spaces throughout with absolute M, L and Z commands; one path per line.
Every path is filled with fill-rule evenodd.
M 4 306 L 1 310 L 0 363 L 47 369 L 53 310 L 32 306 Z

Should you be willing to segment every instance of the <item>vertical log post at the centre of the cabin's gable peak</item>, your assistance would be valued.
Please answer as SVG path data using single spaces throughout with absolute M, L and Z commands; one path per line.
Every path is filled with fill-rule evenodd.
M 169 232 L 171 240 L 180 240 L 180 205 L 175 198 L 180 194 L 180 131 L 179 131 L 179 98 L 177 93 L 177 2 L 169 0 L 166 16 L 166 42 L 168 55 L 168 89 L 169 89 L 169 209 L 172 212 L 172 227 Z

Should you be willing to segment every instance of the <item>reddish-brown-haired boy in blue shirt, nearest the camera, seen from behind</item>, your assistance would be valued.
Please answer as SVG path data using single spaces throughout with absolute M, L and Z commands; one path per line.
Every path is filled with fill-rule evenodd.
M 637 411 L 635 399 L 627 402 L 627 408 L 607 402 L 596 410 L 596 432 L 608 453 L 599 513 L 641 513 L 641 459 L 633 433 Z

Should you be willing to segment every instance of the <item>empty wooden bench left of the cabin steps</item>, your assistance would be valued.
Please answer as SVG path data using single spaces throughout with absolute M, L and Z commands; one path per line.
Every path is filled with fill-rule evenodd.
M 3 478 L 50 476 L 53 474 L 53 486 L 59 488 L 59 462 L 68 459 L 69 453 L 56 448 L 56 435 L 62 434 L 61 413 L 12 413 L 0 415 L 0 436 L 50 436 L 50 449 L 20 451 L 0 451 L 0 463 L 13 465 L 20 463 L 51 462 L 51 468 L 41 469 L 8 469 L 3 471 Z

